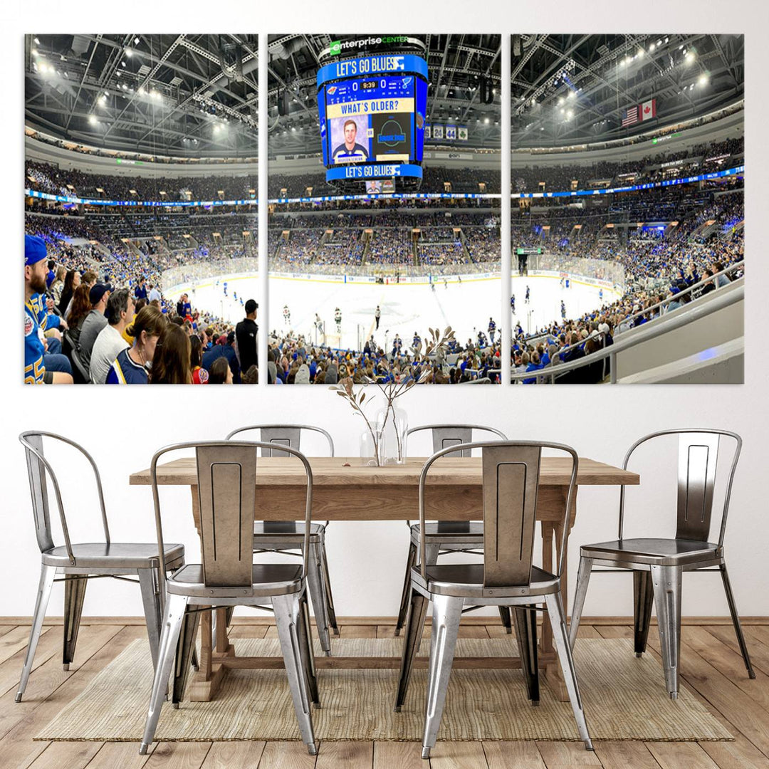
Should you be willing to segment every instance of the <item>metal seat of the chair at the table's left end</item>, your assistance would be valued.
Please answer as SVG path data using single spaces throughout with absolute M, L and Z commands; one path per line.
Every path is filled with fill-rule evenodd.
M 184 558 L 183 544 L 165 544 L 165 561 L 169 566 Z M 158 544 L 156 542 L 85 542 L 72 545 L 75 566 L 78 568 L 147 569 L 158 566 Z M 65 545 L 52 548 L 42 554 L 46 566 L 72 566 Z

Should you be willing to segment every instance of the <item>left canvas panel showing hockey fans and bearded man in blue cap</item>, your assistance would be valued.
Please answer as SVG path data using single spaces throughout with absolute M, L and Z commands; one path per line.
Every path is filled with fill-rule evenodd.
M 258 35 L 25 37 L 25 382 L 255 382 Z

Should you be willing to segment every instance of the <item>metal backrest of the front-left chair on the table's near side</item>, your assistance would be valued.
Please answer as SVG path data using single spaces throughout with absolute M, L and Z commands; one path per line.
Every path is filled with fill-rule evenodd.
M 203 581 L 211 588 L 251 588 L 257 451 L 270 451 L 271 444 L 265 441 L 202 441 L 165 446 L 155 454 L 150 475 L 161 574 L 165 574 L 165 554 L 158 493 L 158 460 L 170 451 L 185 448 L 195 449 Z M 307 476 L 303 548 L 305 574 L 312 507 L 312 471 L 305 455 L 295 448 L 286 447 L 283 453 L 297 457 L 304 464 Z

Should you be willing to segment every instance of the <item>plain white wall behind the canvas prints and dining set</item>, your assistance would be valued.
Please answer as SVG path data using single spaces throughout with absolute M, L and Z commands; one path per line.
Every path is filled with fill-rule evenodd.
M 158 25 L 173 32 L 180 27 L 206 28 L 210 6 L 188 4 L 184 23 L 172 6 Z M 330 3 L 296 0 L 269 11 L 252 6 L 245 12 L 241 4 L 222 2 L 217 19 L 237 20 L 239 28 L 281 32 L 295 28 L 301 19 L 304 30 L 328 26 Z M 484 12 L 468 16 L 465 2 L 446 2 L 409 8 L 408 26 L 430 28 L 433 32 L 461 30 L 505 32 L 521 30 L 579 32 L 593 27 L 590 8 L 600 9 L 604 32 L 628 32 L 644 25 L 638 8 L 608 7 L 601 3 L 558 6 L 541 2 L 535 8 L 488 2 Z M 697 27 L 700 6 L 696 2 L 675 5 L 647 3 L 647 17 L 655 27 L 660 20 L 666 31 L 691 31 Z M 664 8 L 664 13 L 658 13 Z M 72 29 L 79 23 L 98 28 L 123 28 L 120 8 L 103 4 L 93 8 L 86 2 L 72 18 L 68 8 L 49 9 L 46 24 L 49 31 Z M 727 557 L 737 604 L 743 614 L 767 614 L 767 364 L 764 340 L 767 328 L 767 261 L 764 240 L 758 222 L 764 218 L 767 200 L 761 180 L 769 178 L 767 149 L 763 126 L 769 120 L 764 98 L 761 10 L 747 2 L 714 2 L 709 5 L 709 26 L 721 32 L 745 32 L 748 35 L 747 60 L 747 219 L 755 221 L 747 228 L 749 253 L 746 301 L 746 384 L 741 386 L 634 386 L 564 388 L 417 388 L 404 399 L 412 424 L 442 419 L 497 425 L 514 438 L 539 438 L 573 444 L 580 454 L 601 461 L 618 463 L 628 445 L 640 435 L 677 425 L 724 426 L 744 437 L 744 458 L 737 471 L 731 506 L 731 524 L 727 530 Z M 55 11 L 55 12 L 54 12 Z M 737 12 L 739 11 L 739 12 Z M 155 12 L 155 8 L 153 9 Z M 440 12 L 441 16 L 436 14 Z M 365 14 L 359 15 L 359 31 L 364 31 Z M 85 19 L 85 22 L 82 20 Z M 370 22 L 380 21 L 372 12 Z M 405 22 L 405 18 L 403 19 Z M 18 67 L 22 62 L 22 33 L 35 32 L 32 11 L 25 16 L 5 18 L 6 45 L 3 64 L 12 74 L 6 83 L 9 103 L 20 110 L 22 102 Z M 765 19 L 764 19 L 765 22 Z M 221 26 L 218 23 L 217 26 Z M 40 32 L 40 30 L 36 30 Z M 82 31 L 82 29 L 81 29 Z M 369 30 L 370 31 L 370 28 Z M 148 488 L 128 487 L 128 474 L 145 468 L 153 451 L 161 444 L 196 438 L 218 438 L 245 422 L 287 421 L 315 422 L 334 434 L 338 454 L 357 451 L 361 424 L 346 404 L 325 388 L 235 388 L 225 393 L 211 388 L 25 388 L 21 384 L 22 343 L 20 308 L 14 291 L 21 290 L 22 259 L 22 119 L 18 112 L 0 125 L 8 183 L 2 185 L 3 202 L 0 215 L 5 225 L 5 275 L 14 276 L 6 295 L 8 324 L 5 326 L 5 372 L 2 388 L 2 516 L 0 539 L 0 616 L 30 614 L 35 597 L 39 554 L 32 531 L 28 485 L 22 448 L 16 441 L 24 429 L 47 428 L 60 431 L 80 441 L 95 455 L 102 467 L 108 508 L 112 518 L 113 538 L 146 539 L 153 537 L 151 499 Z M 9 266 L 8 266 L 9 265 Z M 667 472 L 666 472 L 667 468 Z M 655 484 L 663 495 L 657 478 L 674 481 L 669 465 L 661 458 L 651 458 L 643 472 L 644 481 Z M 78 478 L 75 478 L 78 481 Z M 77 491 L 77 490 L 75 490 Z M 276 491 L 279 493 L 279 490 Z M 195 532 L 188 514 L 188 494 L 175 494 L 169 530 L 184 541 L 190 553 L 195 551 Z M 618 491 L 616 488 L 584 488 L 578 499 L 578 519 L 572 543 L 612 538 L 616 527 Z M 85 537 L 96 536 L 98 523 L 92 514 L 73 508 Z M 670 524 L 671 509 L 651 505 L 641 512 L 644 525 L 655 530 Z M 335 601 L 339 614 L 392 615 L 397 611 L 401 591 L 407 532 L 402 523 L 332 524 L 328 533 L 328 551 Z M 575 573 L 573 548 L 571 574 Z M 727 606 L 717 575 L 689 575 L 684 578 L 684 614 L 726 614 Z M 51 604 L 52 614 L 61 614 L 61 589 L 56 588 Z M 631 614 L 631 580 L 609 575 L 594 581 L 587 614 Z M 87 614 L 137 615 L 141 613 L 138 591 L 112 581 L 95 581 L 88 588 Z

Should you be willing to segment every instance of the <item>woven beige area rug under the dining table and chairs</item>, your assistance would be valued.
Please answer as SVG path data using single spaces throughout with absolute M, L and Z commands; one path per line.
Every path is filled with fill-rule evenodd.
M 400 638 L 334 639 L 339 656 L 399 656 Z M 236 639 L 238 654 L 279 655 L 278 641 Z M 429 644 L 422 644 L 422 654 Z M 316 644 L 316 653 L 321 651 Z M 508 638 L 462 638 L 458 656 L 517 654 Z M 588 728 L 594 740 L 730 741 L 726 729 L 682 689 L 671 701 L 660 664 L 638 659 L 625 639 L 580 639 L 575 650 Z M 53 741 L 138 741 L 144 731 L 152 668 L 146 641 L 134 641 L 36 737 Z M 427 671 L 415 670 L 401 713 L 392 706 L 397 670 L 320 670 L 319 740 L 421 740 Z M 159 741 L 292 740 L 299 736 L 283 670 L 230 670 L 211 702 L 165 704 Z M 578 740 L 568 702 L 541 685 L 540 707 L 526 699 L 518 670 L 455 669 L 441 740 Z

